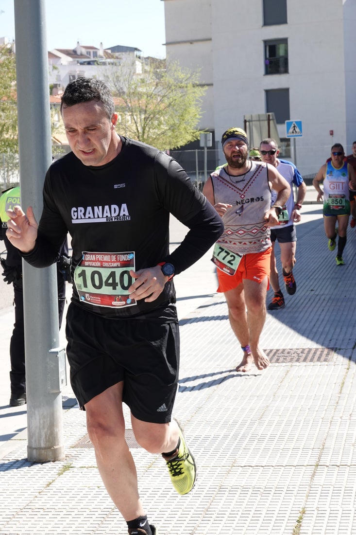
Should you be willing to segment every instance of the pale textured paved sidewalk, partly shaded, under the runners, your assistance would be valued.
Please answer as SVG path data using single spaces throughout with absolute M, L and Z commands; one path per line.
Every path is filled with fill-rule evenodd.
M 262 372 L 235 371 L 242 352 L 208 256 L 176 279 L 184 299 L 175 415 L 196 455 L 194 490 L 177 495 L 162 458 L 138 448 L 127 430 L 159 535 L 356 535 L 356 234 L 349 227 L 345 266 L 327 248 L 320 205 L 303 207 L 297 235 L 297 293 L 267 315 L 261 346 L 271 365 Z M 9 317 L 0 310 L 2 371 Z M 26 430 L 0 446 L 0 535 L 127 532 L 66 388 L 63 461 L 29 463 Z M 0 403 L 3 425 L 13 409 Z

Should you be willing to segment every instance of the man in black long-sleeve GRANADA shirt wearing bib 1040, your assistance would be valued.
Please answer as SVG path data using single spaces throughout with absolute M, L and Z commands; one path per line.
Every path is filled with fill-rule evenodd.
M 122 402 L 138 444 L 163 452 L 176 491 L 188 493 L 195 460 L 171 418 L 179 373 L 173 276 L 203 256 L 223 225 L 171 157 L 115 132 L 117 114 L 103 82 L 69 83 L 61 113 L 72 152 L 47 173 L 38 230 L 32 208 L 26 216 L 18 207 L 9 212 L 7 236 L 38 267 L 53 263 L 65 234 L 72 236 L 71 384 L 128 533 L 154 535 L 125 442 Z M 190 229 L 172 254 L 169 213 Z

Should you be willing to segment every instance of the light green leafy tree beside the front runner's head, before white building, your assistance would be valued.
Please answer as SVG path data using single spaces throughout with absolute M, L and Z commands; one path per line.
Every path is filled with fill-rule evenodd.
M 106 81 L 111 86 L 118 113 L 118 132 L 161 150 L 175 149 L 199 138 L 197 125 L 206 88 L 199 85 L 199 72 L 177 63 L 137 62 L 113 65 Z M 162 68 L 163 67 L 163 68 Z

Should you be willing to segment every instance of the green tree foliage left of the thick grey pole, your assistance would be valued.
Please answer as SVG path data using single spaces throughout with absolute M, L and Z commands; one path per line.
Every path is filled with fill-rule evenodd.
M 11 48 L 0 45 L 0 154 L 17 154 L 16 60 Z

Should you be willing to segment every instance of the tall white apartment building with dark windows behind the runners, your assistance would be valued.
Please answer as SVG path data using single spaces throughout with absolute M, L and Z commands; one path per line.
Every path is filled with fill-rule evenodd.
M 167 60 L 200 68 L 207 86 L 199 128 L 220 141 L 245 115 L 274 112 L 288 157 L 285 121 L 301 121 L 295 159 L 303 175 L 319 170 L 332 143 L 350 154 L 356 0 L 163 1 Z

